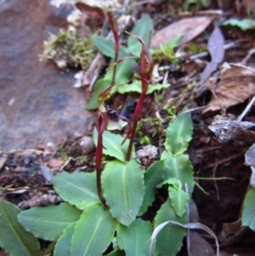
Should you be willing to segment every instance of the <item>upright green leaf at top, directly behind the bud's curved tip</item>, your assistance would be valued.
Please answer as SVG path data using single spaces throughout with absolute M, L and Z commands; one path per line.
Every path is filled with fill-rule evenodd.
M 153 33 L 153 21 L 150 16 L 148 14 L 144 14 L 143 17 L 137 21 L 131 33 L 141 37 L 144 40 L 144 43 L 148 46 Z M 133 56 L 138 58 L 140 57 L 142 45 L 139 41 L 133 37 L 128 37 L 127 47 L 127 51 L 130 54 L 133 54 Z

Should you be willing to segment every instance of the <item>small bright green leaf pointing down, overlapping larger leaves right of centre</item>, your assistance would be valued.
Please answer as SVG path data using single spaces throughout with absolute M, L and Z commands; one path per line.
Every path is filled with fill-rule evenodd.
M 183 190 L 177 191 L 173 186 L 168 187 L 168 195 L 171 199 L 171 205 L 178 217 L 182 217 L 186 213 L 187 205 L 190 201 L 190 195 Z

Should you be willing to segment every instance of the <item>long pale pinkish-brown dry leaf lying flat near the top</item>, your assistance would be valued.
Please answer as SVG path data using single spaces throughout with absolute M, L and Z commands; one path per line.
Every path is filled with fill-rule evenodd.
M 157 31 L 150 42 L 150 48 L 161 48 L 161 46 L 171 40 L 173 37 L 182 35 L 181 43 L 190 42 L 192 39 L 205 31 L 214 17 L 202 16 L 179 20 L 169 26 Z

